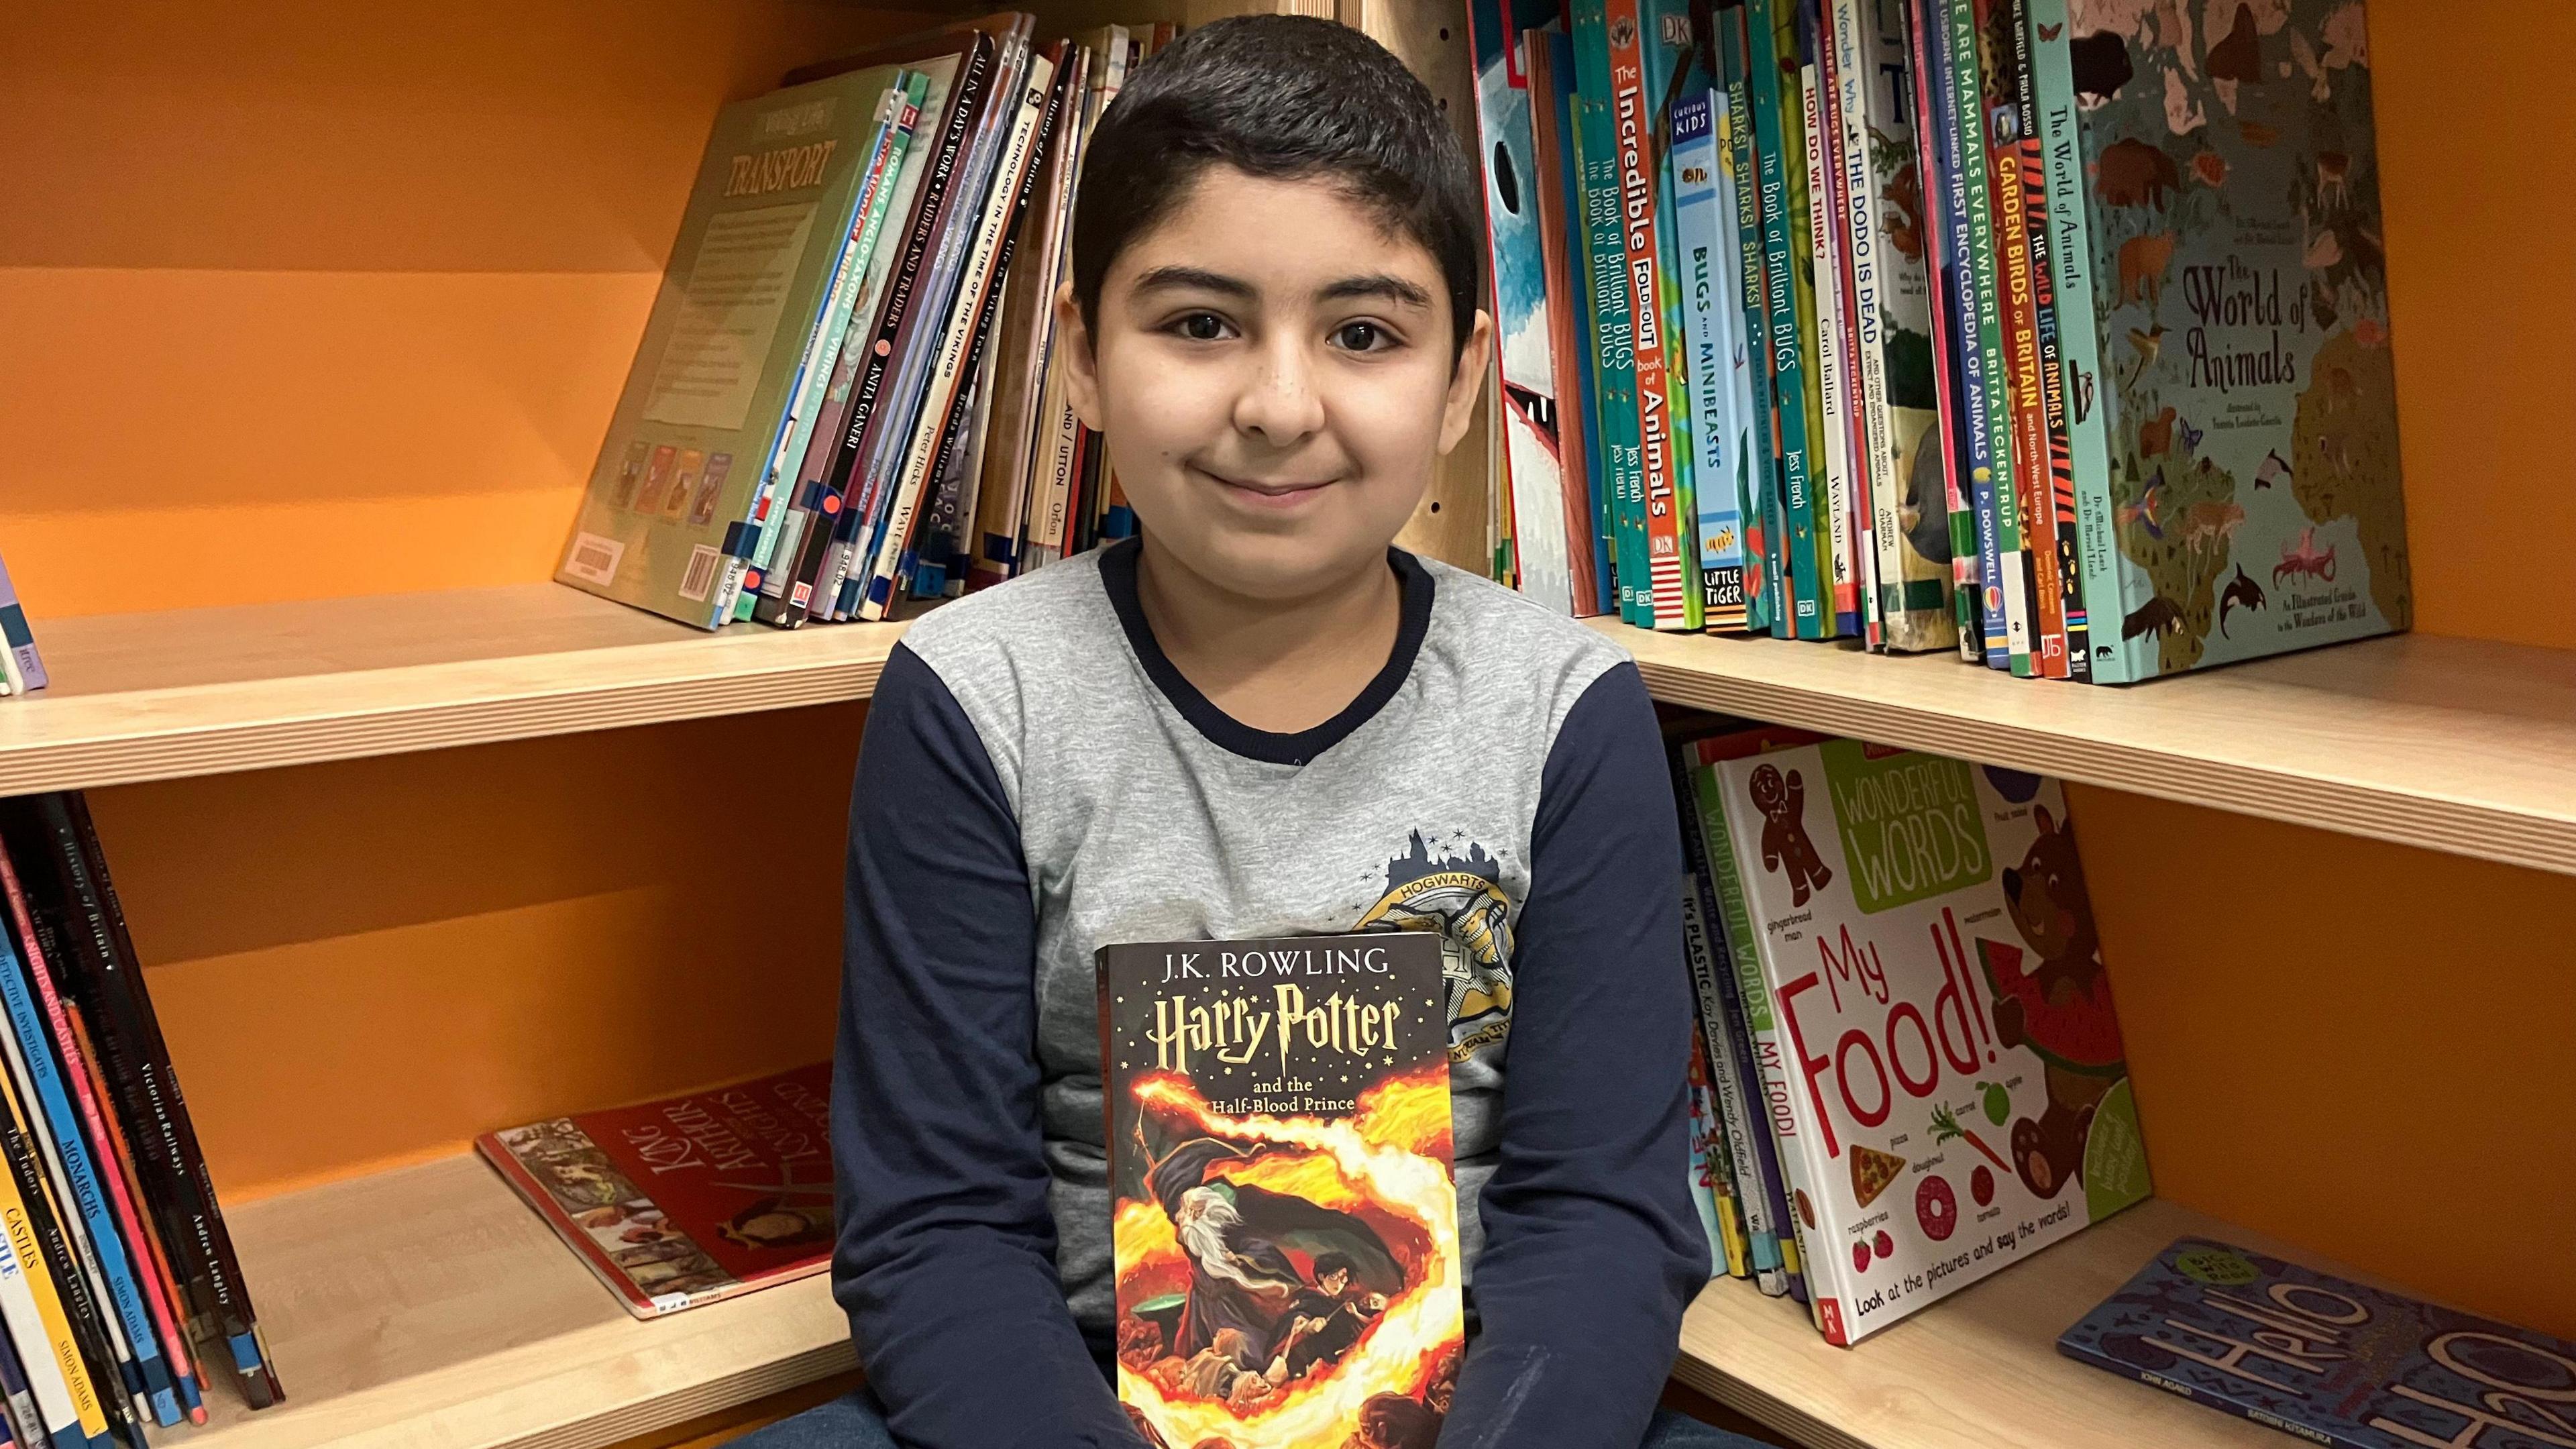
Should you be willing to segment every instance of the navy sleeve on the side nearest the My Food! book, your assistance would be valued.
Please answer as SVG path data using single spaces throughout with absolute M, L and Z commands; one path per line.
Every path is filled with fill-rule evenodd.
M 1682 846 L 1636 665 L 1540 776 L 1512 964 L 1502 1147 L 1443 1449 L 1636 1449 L 1708 1279 L 1692 1214 Z

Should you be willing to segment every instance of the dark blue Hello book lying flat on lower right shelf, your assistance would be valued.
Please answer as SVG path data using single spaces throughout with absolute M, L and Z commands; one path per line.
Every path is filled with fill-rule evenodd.
M 2182 1238 L 2069 1359 L 2336 1449 L 2576 1444 L 2576 1343 Z

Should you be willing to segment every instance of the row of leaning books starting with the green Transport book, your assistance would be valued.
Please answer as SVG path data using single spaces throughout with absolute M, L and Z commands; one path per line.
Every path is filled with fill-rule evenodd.
M 719 113 L 559 580 L 793 629 L 1131 531 L 1054 297 L 1084 144 L 1175 28 L 1033 34 L 987 15 Z

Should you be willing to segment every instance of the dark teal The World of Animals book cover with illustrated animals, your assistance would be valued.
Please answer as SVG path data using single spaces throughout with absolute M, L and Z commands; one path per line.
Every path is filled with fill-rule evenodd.
M 2097 642 L 2154 678 L 2411 627 L 2362 5 L 2215 5 L 2192 36 L 2087 10 Z

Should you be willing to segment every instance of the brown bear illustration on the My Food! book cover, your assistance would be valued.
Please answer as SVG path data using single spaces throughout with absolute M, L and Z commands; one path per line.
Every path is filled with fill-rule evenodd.
M 2084 1173 L 2094 1106 L 2128 1075 L 2128 1062 L 2074 828 L 2045 804 L 2032 817 L 2038 838 L 2020 866 L 2004 869 L 2004 902 L 2027 951 L 1978 941 L 1978 954 L 1994 990 L 1996 1042 L 2030 1047 L 2045 1065 L 2048 1106 L 2012 1124 L 2012 1163 L 2022 1186 L 2053 1199 Z

